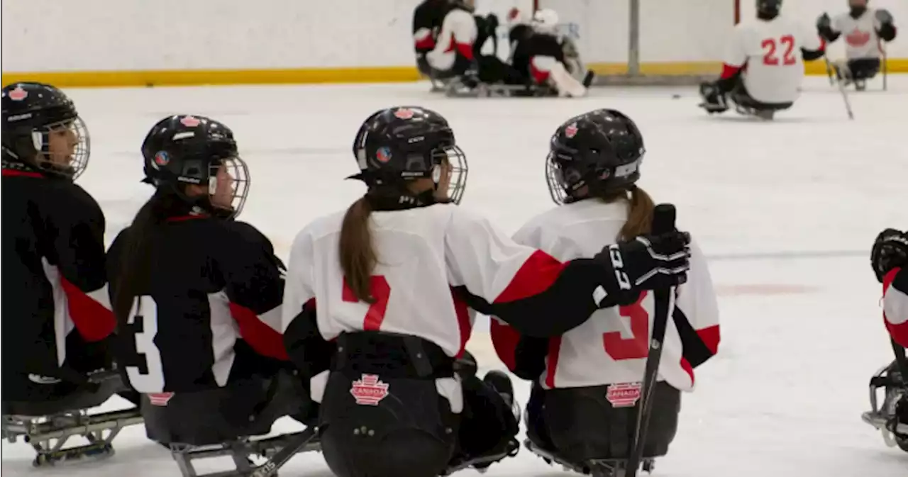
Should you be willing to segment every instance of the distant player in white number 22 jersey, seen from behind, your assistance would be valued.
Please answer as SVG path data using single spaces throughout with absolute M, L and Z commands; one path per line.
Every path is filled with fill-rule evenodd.
M 700 85 L 707 112 L 728 110 L 772 119 L 792 106 L 804 79 L 804 61 L 824 54 L 824 44 L 806 28 L 779 14 L 782 0 L 756 0 L 756 18 L 735 26 L 722 76 Z M 802 60 L 803 58 L 803 60 Z

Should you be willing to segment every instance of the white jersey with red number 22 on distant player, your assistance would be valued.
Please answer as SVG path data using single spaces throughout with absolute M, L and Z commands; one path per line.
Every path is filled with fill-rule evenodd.
M 820 38 L 803 25 L 779 15 L 735 26 L 725 64 L 744 68 L 747 92 L 758 102 L 795 102 L 804 80 L 802 48 L 817 51 Z

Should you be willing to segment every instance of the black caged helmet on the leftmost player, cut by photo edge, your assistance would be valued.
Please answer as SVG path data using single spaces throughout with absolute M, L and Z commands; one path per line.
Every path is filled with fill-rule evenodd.
M 73 100 L 44 83 L 3 89 L 3 158 L 75 179 L 88 167 L 88 129 Z

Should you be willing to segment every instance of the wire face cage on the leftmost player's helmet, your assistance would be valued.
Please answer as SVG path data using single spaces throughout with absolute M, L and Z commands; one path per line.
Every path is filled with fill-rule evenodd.
M 61 130 L 68 130 L 75 136 L 75 147 L 72 154 L 67 151 L 66 157 L 68 161 L 66 163 L 54 161 L 52 157 L 54 152 L 50 149 L 51 134 Z M 37 154 L 35 156 L 35 165 L 39 169 L 50 170 L 75 180 L 88 167 L 88 159 L 91 154 L 91 137 L 88 134 L 85 122 L 79 116 L 35 128 L 32 131 L 32 146 Z M 59 154 L 59 152 L 56 152 L 56 154 Z

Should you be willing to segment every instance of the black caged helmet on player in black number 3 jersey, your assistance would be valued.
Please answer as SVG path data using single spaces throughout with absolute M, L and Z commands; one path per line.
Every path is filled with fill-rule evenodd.
M 157 122 L 142 143 L 145 162 L 143 182 L 174 190 L 192 206 L 215 215 L 236 217 L 249 194 L 246 162 L 237 152 L 233 131 L 222 122 L 204 116 L 177 114 Z M 212 199 L 218 194 L 219 172 L 230 175 L 232 197 L 228 206 Z M 223 176 L 222 176 L 223 178 Z M 207 185 L 208 195 L 187 196 L 185 185 Z M 223 193 L 223 192 L 222 192 Z M 224 212 L 227 210 L 228 212 Z

